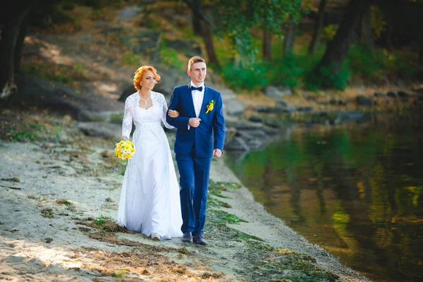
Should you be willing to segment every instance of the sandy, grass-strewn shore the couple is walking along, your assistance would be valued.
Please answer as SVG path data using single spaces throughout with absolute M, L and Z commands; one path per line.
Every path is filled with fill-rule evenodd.
M 14 131 L 3 126 L 0 142 L 0 280 L 368 281 L 268 214 L 223 158 L 212 162 L 223 189 L 209 192 L 207 246 L 121 230 L 113 138 L 87 137 L 68 117 L 1 116 Z M 23 132 L 30 140 L 9 141 Z

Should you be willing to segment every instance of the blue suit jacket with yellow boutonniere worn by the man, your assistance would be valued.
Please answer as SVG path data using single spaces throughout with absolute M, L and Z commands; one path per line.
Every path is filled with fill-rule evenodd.
M 207 105 L 211 102 L 214 102 L 214 107 L 207 112 Z M 191 126 L 188 130 L 189 119 L 196 117 L 189 84 L 173 88 L 168 109 L 179 112 L 177 118 L 166 115 L 166 121 L 177 128 L 174 146 L 176 154 L 190 154 L 194 144 L 197 157 L 211 158 L 213 157 L 213 149 L 220 149 L 223 152 L 225 119 L 220 92 L 204 84 L 204 98 L 200 116 L 198 116 L 201 121 L 197 128 Z

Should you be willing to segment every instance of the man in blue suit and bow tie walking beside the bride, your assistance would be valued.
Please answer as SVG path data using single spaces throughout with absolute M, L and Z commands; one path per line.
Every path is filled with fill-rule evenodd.
M 168 109 L 179 116 L 166 121 L 177 128 L 175 140 L 176 163 L 180 183 L 183 242 L 205 245 L 207 188 L 212 157 L 221 157 L 225 140 L 220 92 L 204 85 L 207 66 L 200 56 L 188 61 L 191 82 L 173 88 Z

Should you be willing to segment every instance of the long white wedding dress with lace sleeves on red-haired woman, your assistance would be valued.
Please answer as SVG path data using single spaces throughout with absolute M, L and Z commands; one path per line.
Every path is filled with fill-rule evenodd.
M 140 94 L 125 100 L 122 136 L 129 137 L 133 123 L 135 154 L 128 161 L 118 207 L 118 224 L 146 236 L 182 237 L 179 184 L 171 149 L 161 122 L 166 128 L 168 107 L 163 94 L 151 92 L 152 106 L 139 106 Z

